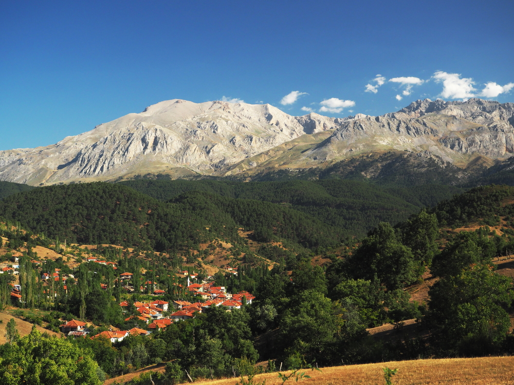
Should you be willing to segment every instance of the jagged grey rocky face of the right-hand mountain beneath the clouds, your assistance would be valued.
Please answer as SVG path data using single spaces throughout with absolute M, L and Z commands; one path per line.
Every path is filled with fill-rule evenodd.
M 340 122 L 332 136 L 311 152 L 334 159 L 348 151 L 383 145 L 430 150 L 450 162 L 464 154 L 509 157 L 514 152 L 513 116 L 513 103 L 418 100 L 398 112 Z

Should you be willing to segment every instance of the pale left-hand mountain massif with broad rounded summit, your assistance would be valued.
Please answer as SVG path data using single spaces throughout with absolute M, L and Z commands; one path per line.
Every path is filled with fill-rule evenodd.
M 0 179 L 36 185 L 108 179 L 146 169 L 209 173 L 307 131 L 328 128 L 334 128 L 329 118 L 312 114 L 298 120 L 267 104 L 174 99 L 55 145 L 0 151 Z

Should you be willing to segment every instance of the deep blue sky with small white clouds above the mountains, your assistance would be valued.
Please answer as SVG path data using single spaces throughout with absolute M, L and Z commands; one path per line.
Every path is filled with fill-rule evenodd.
M 513 14 L 511 0 L 2 2 L 0 150 L 176 98 L 334 117 L 514 102 Z

